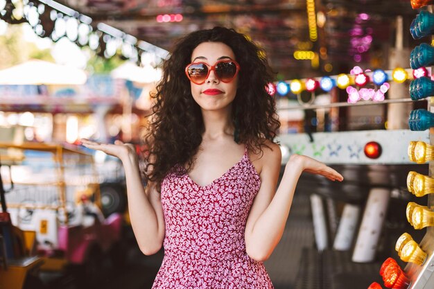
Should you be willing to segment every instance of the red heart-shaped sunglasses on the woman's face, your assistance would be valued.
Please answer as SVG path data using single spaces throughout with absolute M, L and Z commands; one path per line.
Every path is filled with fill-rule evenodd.
M 227 83 L 235 78 L 240 70 L 240 66 L 234 60 L 218 60 L 212 66 L 209 66 L 205 62 L 195 62 L 185 67 L 185 74 L 191 82 L 196 85 L 202 85 L 207 80 L 211 70 L 214 70 L 218 80 Z

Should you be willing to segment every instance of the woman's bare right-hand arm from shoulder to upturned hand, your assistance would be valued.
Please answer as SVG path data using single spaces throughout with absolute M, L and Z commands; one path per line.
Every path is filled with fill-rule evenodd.
M 333 181 L 343 179 L 336 170 L 320 161 L 292 155 L 285 166 L 279 188 L 275 191 L 281 166 L 281 152 L 274 143 L 270 148 L 264 148 L 261 188 L 254 199 L 245 227 L 246 251 L 257 261 L 268 259 L 279 243 L 293 202 L 295 186 L 303 171 L 324 175 Z

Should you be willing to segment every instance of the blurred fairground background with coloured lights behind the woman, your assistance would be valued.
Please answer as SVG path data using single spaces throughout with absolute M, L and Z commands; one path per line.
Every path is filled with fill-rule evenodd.
M 409 213 L 430 211 L 434 192 L 434 117 L 422 112 L 434 91 L 421 88 L 434 52 L 412 52 L 431 47 L 434 18 L 415 24 L 431 10 L 416 0 L 0 0 L 0 288 L 151 288 L 164 250 L 141 254 L 121 164 L 78 140 L 120 139 L 140 154 L 162 63 L 177 39 L 214 26 L 266 51 L 282 168 L 297 153 L 345 177 L 300 179 L 266 261 L 275 288 L 433 288 L 428 261 L 395 251 L 404 231 L 423 261 L 434 247 L 431 225 Z M 402 287 L 379 274 L 388 257 Z

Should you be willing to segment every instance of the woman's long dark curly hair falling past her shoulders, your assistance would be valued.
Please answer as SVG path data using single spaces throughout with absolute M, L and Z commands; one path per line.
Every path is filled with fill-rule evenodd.
M 249 150 L 262 152 L 266 140 L 273 141 L 280 123 L 277 119 L 275 99 L 267 92 L 274 80 L 266 53 L 233 29 L 214 27 L 199 30 L 175 44 L 170 58 L 164 62 L 163 77 L 153 95 L 155 105 L 150 117 L 149 131 L 144 141 L 148 170 L 146 180 L 157 182 L 176 164 L 190 171 L 194 156 L 205 131 L 199 105 L 191 95 L 190 80 L 184 69 L 191 62 L 191 54 L 202 42 L 223 42 L 234 51 L 240 64 L 238 88 L 232 105 L 232 120 L 236 141 L 245 143 Z

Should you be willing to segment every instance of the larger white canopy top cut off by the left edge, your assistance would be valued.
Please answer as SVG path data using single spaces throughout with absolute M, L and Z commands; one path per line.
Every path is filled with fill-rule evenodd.
M 0 85 L 83 85 L 85 71 L 43 60 L 29 60 L 0 70 Z

